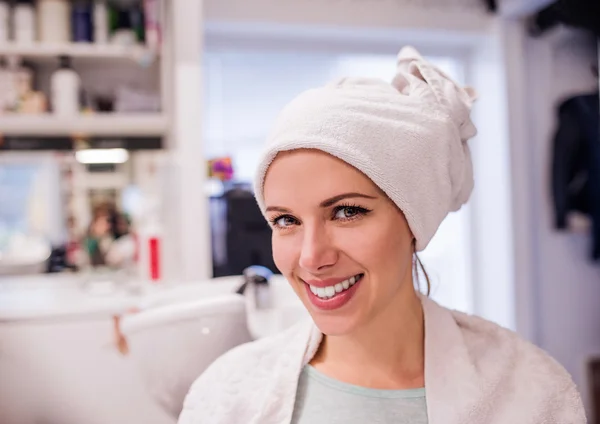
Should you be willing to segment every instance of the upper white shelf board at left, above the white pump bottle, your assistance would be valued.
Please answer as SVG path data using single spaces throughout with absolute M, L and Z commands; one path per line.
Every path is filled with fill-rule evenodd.
M 32 61 L 56 60 L 59 56 L 74 59 L 132 60 L 152 63 L 158 52 L 144 46 L 119 46 L 111 44 L 67 43 L 67 44 L 0 44 L 0 56 L 19 56 Z

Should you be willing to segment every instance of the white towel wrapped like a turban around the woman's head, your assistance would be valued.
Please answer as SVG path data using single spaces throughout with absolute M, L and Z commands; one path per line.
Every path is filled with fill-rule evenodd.
M 403 211 L 423 250 L 439 225 L 473 189 L 467 140 L 474 93 L 407 47 L 393 82 L 344 78 L 308 90 L 281 112 L 255 180 L 263 184 L 277 153 L 318 149 L 354 166 Z

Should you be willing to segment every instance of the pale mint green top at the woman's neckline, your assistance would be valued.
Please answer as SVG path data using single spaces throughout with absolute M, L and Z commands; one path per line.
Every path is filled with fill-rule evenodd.
M 292 424 L 427 424 L 425 389 L 377 390 L 302 370 Z

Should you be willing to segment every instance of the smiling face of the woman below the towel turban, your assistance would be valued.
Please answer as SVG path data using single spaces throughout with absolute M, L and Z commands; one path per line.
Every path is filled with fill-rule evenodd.
M 317 150 L 280 153 L 264 197 L 275 264 L 323 333 L 350 334 L 413 290 L 406 219 L 352 166 Z

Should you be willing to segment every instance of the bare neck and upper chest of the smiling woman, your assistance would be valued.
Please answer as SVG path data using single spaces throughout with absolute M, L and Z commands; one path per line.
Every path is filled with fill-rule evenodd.
M 311 361 L 349 384 L 376 389 L 424 386 L 424 320 L 412 284 L 386 310 L 352 334 L 324 336 Z

